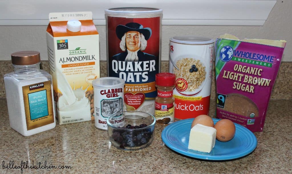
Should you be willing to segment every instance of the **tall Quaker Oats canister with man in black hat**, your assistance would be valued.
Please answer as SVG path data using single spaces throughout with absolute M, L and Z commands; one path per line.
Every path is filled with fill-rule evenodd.
M 125 111 L 154 115 L 155 74 L 160 72 L 162 10 L 105 10 L 108 76 L 125 80 Z

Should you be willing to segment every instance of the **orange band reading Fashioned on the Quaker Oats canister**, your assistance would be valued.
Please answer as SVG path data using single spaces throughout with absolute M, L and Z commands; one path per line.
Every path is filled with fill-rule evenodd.
M 126 84 L 125 85 L 125 93 L 151 93 L 153 91 L 156 91 L 155 88 L 155 81 L 145 84 Z

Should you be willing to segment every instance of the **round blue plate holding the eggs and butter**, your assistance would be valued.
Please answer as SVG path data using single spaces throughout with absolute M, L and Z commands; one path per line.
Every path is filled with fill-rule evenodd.
M 164 128 L 161 139 L 166 146 L 180 154 L 207 160 L 227 160 L 248 155 L 255 150 L 258 141 L 256 136 L 247 128 L 234 123 L 235 135 L 227 142 L 216 140 L 210 153 L 189 150 L 190 129 L 193 118 L 174 122 Z M 213 118 L 214 124 L 220 119 Z

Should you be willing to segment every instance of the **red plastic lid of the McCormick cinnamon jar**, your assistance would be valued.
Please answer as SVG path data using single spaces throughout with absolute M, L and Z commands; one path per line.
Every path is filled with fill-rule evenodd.
M 161 72 L 155 75 L 155 83 L 158 86 L 174 86 L 175 74 L 169 72 Z

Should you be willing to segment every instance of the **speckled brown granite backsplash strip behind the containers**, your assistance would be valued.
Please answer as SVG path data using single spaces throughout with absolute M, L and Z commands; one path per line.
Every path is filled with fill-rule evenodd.
M 215 88 L 215 73 L 213 65 L 213 77 L 212 77 L 212 88 L 211 88 L 211 99 L 215 99 L 216 88 Z M 41 61 L 41 69 L 49 72 L 48 61 Z M 290 100 L 292 99 L 292 62 L 282 62 L 279 73 L 274 84 L 274 88 L 270 99 L 282 99 Z M 4 86 L 4 74 L 12 72 L 13 67 L 11 61 L 0 61 L 0 73 L 1 73 L 1 83 L 0 83 L 0 98 L 5 98 L 5 86 Z M 161 62 L 161 72 L 168 72 L 168 61 Z M 107 62 L 100 61 L 100 77 L 107 77 Z

